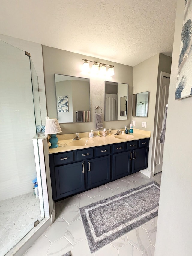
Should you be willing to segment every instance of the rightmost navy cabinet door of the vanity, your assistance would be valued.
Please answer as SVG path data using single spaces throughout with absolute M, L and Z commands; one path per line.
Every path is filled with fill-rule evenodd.
M 148 153 L 149 153 L 148 147 L 135 149 L 133 151 L 132 173 L 136 173 L 140 170 L 144 170 L 147 168 Z

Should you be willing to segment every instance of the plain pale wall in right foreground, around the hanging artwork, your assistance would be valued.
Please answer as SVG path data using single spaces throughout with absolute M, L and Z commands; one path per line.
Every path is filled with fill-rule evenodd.
M 184 4 L 177 2 L 155 256 L 192 253 L 192 97 L 175 100 Z

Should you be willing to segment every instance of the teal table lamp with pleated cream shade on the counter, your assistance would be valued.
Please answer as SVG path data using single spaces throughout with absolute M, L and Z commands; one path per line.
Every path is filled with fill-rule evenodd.
M 51 143 L 51 149 L 58 147 L 57 133 L 59 132 L 61 132 L 61 128 L 59 126 L 58 120 L 56 118 L 50 119 L 49 117 L 46 117 L 45 134 L 51 134 L 51 137 L 49 138 L 49 142 Z

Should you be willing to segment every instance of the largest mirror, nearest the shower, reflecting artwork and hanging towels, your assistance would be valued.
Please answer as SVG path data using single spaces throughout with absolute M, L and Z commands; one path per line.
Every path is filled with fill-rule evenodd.
M 59 123 L 90 122 L 89 79 L 55 74 Z

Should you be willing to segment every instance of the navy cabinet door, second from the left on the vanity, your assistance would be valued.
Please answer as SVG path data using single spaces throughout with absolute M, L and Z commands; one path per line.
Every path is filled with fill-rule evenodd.
M 110 181 L 110 156 L 87 161 L 88 188 L 100 186 Z

